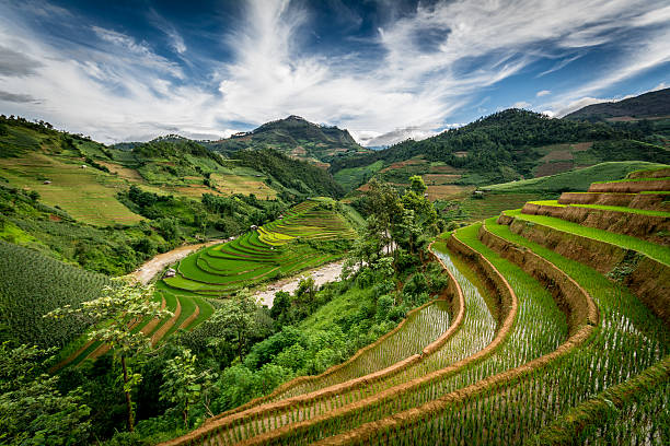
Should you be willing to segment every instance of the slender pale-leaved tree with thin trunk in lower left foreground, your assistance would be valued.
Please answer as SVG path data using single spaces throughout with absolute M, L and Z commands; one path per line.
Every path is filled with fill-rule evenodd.
M 151 347 L 149 338 L 140 330 L 134 332 L 132 328 L 146 319 L 172 316 L 169 310 L 161 309 L 161 304 L 153 302 L 152 297 L 153 286 L 120 282 L 115 286 L 105 286 L 101 297 L 84 302 L 79 308 L 67 305 L 45 315 L 54 318 L 66 315 L 81 317 L 93 326 L 89 339 L 109 345 L 122 365 L 129 432 L 134 431 L 135 424 L 131 391 L 141 380 L 141 375 L 132 372 L 130 362 L 137 361 Z

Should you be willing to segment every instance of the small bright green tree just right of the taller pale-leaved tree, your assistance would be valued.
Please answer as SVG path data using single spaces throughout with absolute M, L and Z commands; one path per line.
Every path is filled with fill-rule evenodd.
M 211 385 L 213 375 L 208 371 L 197 371 L 196 355 L 183 349 L 182 354 L 169 360 L 163 371 L 163 385 L 160 399 L 169 401 L 182 410 L 184 427 L 188 429 L 188 410 Z

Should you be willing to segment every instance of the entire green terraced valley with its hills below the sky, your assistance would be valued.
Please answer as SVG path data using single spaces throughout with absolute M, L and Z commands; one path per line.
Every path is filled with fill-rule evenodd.
M 666 124 L 608 119 L 510 109 L 371 152 L 296 116 L 109 145 L 2 117 L 8 432 L 662 444 Z

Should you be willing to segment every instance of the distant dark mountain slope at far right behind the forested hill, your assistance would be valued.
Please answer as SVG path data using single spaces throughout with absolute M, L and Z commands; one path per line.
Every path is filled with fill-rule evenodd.
M 570 113 L 565 116 L 565 119 L 596 121 L 660 117 L 670 117 L 670 89 L 640 94 L 619 102 L 589 105 Z

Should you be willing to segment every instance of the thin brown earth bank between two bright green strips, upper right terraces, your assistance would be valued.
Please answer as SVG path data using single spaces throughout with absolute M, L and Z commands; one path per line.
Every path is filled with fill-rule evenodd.
M 530 215 L 547 215 L 582 226 L 596 227 L 616 234 L 629 235 L 663 246 L 670 246 L 670 219 L 643 215 L 633 212 L 608 211 L 575 206 L 556 207 L 525 203 L 521 212 Z

